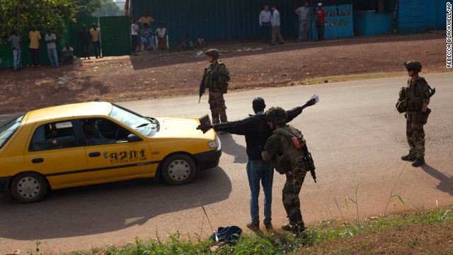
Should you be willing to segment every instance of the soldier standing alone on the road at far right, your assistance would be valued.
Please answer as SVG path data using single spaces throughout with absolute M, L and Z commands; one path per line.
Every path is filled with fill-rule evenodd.
M 413 166 L 425 164 L 425 130 L 430 109 L 430 87 L 425 78 L 419 77 L 422 65 L 418 61 L 404 62 L 408 70 L 408 85 L 405 89 L 407 112 L 406 112 L 406 136 L 409 144 L 409 154 L 401 157 L 405 161 L 413 161 Z

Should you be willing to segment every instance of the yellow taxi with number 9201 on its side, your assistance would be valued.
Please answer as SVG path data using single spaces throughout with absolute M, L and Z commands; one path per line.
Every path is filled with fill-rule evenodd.
M 0 191 L 33 203 L 47 191 L 161 176 L 189 183 L 219 164 L 214 130 L 195 118 L 150 118 L 107 102 L 30 111 L 0 127 Z

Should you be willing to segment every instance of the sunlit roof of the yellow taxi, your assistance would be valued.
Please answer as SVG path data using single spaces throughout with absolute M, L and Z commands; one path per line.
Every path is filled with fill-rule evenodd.
M 71 103 L 64 106 L 52 106 L 28 112 L 28 122 L 69 118 L 87 115 L 109 115 L 112 104 L 108 102 Z

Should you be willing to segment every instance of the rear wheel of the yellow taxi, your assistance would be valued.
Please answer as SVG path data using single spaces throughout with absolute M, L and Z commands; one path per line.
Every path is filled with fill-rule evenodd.
M 40 174 L 18 174 L 11 182 L 11 193 L 21 203 L 35 203 L 45 197 L 47 182 Z

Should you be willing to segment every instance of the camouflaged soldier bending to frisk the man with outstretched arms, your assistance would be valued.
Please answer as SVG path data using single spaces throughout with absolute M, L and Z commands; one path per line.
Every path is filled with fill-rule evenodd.
M 299 192 L 308 171 L 303 145 L 299 140 L 303 136 L 299 130 L 286 124 L 287 113 L 280 107 L 270 108 L 266 111 L 265 118 L 273 135 L 269 137 L 261 155 L 265 161 L 273 159 L 275 170 L 286 175 L 282 200 L 289 224 L 282 229 L 303 232 L 305 225 L 300 210 Z

